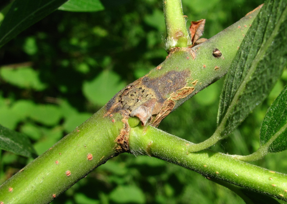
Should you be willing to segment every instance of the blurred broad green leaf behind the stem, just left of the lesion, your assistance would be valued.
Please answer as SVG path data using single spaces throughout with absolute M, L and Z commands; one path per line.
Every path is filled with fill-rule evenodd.
M 125 86 L 120 79 L 113 71 L 102 71 L 94 80 L 84 82 L 84 96 L 94 104 L 103 106 Z

